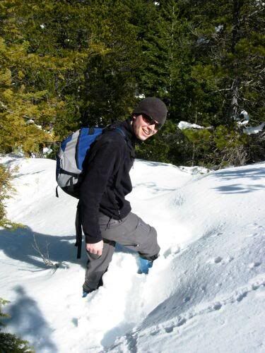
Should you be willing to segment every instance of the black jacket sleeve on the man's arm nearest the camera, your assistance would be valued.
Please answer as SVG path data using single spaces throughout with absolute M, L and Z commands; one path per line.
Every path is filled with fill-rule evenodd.
M 86 243 L 95 244 L 102 240 L 98 224 L 100 201 L 121 160 L 120 145 L 115 140 L 100 142 L 93 159 L 88 164 L 86 176 L 81 184 L 81 213 Z

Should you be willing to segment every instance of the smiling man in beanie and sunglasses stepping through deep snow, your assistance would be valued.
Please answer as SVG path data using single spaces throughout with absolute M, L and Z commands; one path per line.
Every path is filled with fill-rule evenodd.
M 125 196 L 132 190 L 129 171 L 136 140 L 155 135 L 166 116 L 165 104 L 148 97 L 138 104 L 130 119 L 107 128 L 90 151 L 79 203 L 88 254 L 84 297 L 102 285 L 116 242 L 138 251 L 148 261 L 158 258 L 155 228 L 131 213 Z

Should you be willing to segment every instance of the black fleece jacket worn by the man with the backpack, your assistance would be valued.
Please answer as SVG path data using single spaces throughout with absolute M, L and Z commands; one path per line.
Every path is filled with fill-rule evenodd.
M 124 131 L 105 131 L 90 149 L 85 160 L 85 177 L 81 184 L 81 219 L 86 243 L 102 239 L 99 212 L 118 220 L 131 211 L 125 196 L 131 192 L 129 171 L 134 164 L 136 137 L 130 119 L 114 124 Z

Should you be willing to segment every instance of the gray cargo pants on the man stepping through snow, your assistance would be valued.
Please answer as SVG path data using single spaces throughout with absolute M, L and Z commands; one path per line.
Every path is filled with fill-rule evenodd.
M 83 284 L 86 292 L 102 285 L 102 275 L 112 260 L 116 242 L 137 251 L 148 260 L 157 258 L 160 251 L 155 228 L 147 225 L 134 213 L 129 213 L 122 220 L 113 220 L 100 213 L 99 225 L 104 246 L 101 256 L 87 251 L 86 280 Z

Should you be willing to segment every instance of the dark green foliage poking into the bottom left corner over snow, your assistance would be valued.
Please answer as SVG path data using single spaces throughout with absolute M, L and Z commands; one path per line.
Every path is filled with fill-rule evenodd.
M 2 306 L 9 301 L 0 298 L 0 318 L 8 318 L 6 313 L 2 312 Z M 4 325 L 0 321 L 0 325 Z M 33 353 L 33 349 L 29 347 L 28 342 L 21 340 L 11 333 L 2 333 L 0 330 L 0 352 L 1 353 Z

